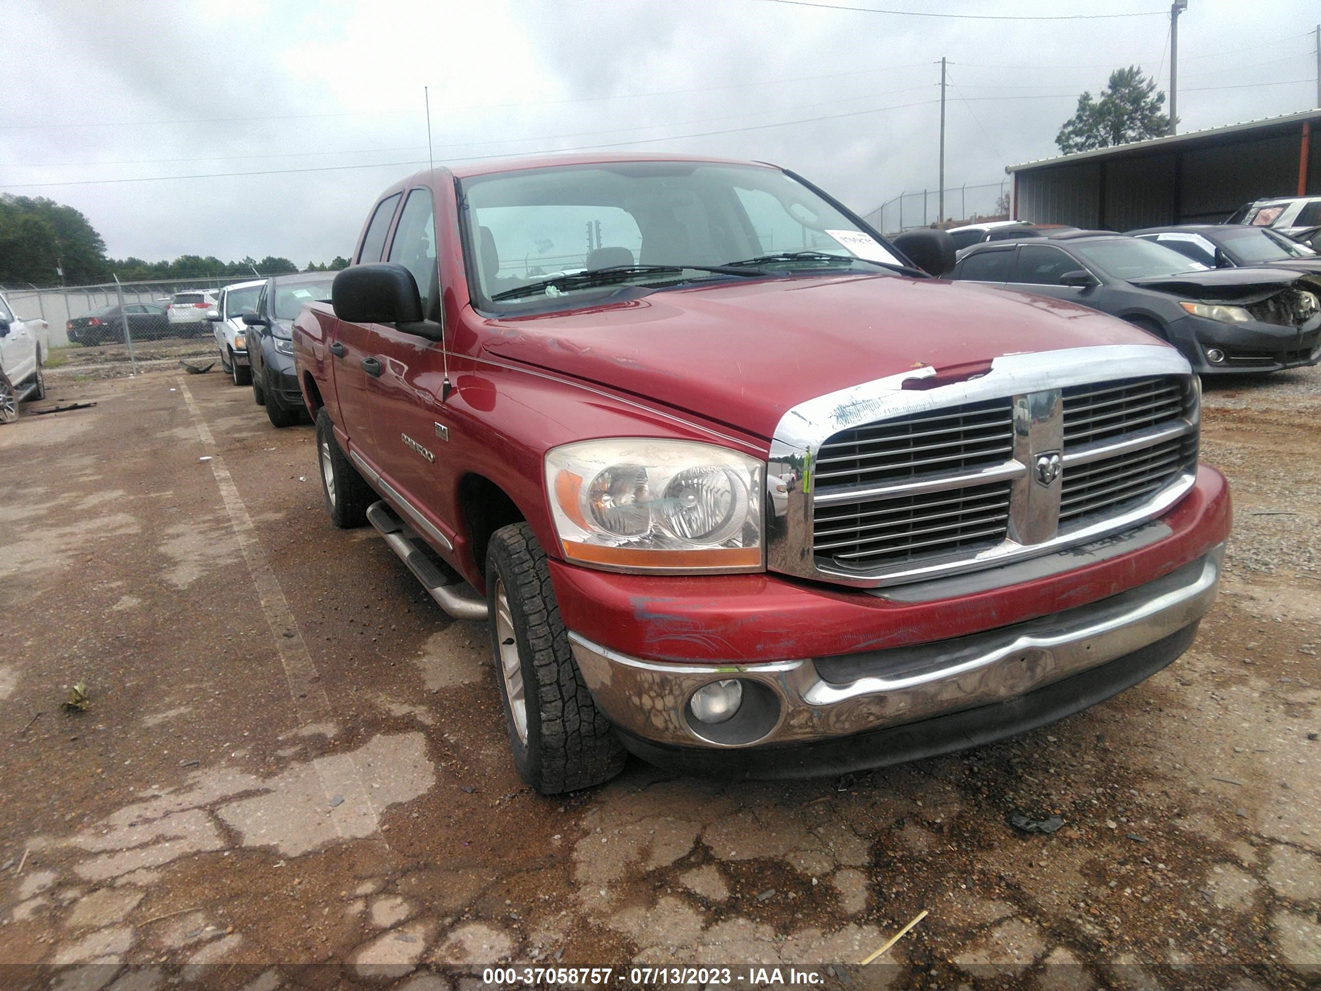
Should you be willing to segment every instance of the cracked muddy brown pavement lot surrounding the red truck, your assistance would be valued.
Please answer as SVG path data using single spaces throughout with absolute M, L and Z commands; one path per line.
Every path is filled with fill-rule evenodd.
M 262 988 L 853 963 L 926 910 L 852 987 L 1318 979 L 1321 371 L 1209 390 L 1236 531 L 1194 649 L 1149 682 L 847 780 L 634 761 L 556 801 L 513 770 L 483 630 L 330 526 L 310 427 L 272 429 L 217 371 L 49 402 L 75 399 L 98 406 L 0 428 L 0 962 Z M 1016 834 L 1016 807 L 1066 825 Z

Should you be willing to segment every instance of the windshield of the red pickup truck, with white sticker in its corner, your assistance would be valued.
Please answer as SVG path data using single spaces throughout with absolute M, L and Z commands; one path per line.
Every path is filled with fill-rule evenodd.
M 573 305 L 638 287 L 731 279 L 723 267 L 777 258 L 782 275 L 841 268 L 878 271 L 863 259 L 901 262 L 820 196 L 783 172 L 683 161 L 567 165 L 462 181 L 466 252 L 477 296 L 490 308 Z M 790 252 L 815 252 L 790 258 Z M 824 258 L 823 258 L 824 255 Z M 510 299 L 556 276 L 621 266 L 664 266 L 622 279 L 567 280 Z M 678 270 L 678 271 L 672 271 Z M 509 299 L 493 303 L 502 293 Z M 514 293 L 517 296 L 517 293 Z

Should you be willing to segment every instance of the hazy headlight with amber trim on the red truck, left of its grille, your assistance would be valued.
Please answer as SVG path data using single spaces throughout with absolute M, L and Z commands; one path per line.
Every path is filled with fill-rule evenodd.
M 760 571 L 761 461 L 684 440 L 618 437 L 546 455 L 564 556 L 617 571 Z

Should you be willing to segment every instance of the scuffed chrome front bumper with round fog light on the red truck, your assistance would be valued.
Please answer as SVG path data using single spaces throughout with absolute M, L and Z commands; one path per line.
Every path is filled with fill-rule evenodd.
M 717 749 L 826 740 L 1004 702 L 1156 643 L 1210 609 L 1223 554 L 1016 626 L 868 654 L 697 666 L 626 657 L 572 632 L 569 641 L 596 703 L 626 733 Z M 738 714 L 699 723 L 692 694 L 733 678 L 745 686 Z

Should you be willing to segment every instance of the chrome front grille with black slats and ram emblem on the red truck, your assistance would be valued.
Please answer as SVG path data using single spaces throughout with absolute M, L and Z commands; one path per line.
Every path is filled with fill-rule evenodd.
M 1107 381 L 1116 367 L 1129 377 Z M 1192 485 L 1197 381 L 1169 348 L 1007 355 L 929 388 L 914 377 L 930 373 L 781 420 L 771 569 L 877 587 L 992 567 L 1132 527 Z M 834 429 L 812 439 L 804 424 Z

